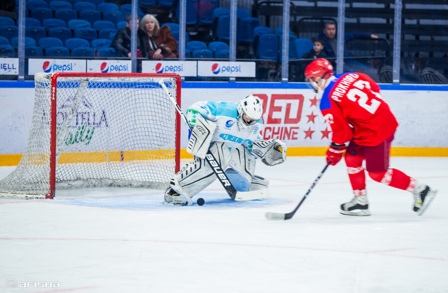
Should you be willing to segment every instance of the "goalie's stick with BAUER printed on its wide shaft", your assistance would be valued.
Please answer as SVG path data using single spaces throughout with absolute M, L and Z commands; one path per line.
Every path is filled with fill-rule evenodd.
M 159 80 L 159 84 L 162 86 L 162 88 L 165 90 L 166 94 L 170 98 L 171 102 L 176 106 L 177 112 L 179 112 L 180 116 L 183 118 L 185 123 L 187 124 L 190 131 L 192 130 L 190 124 L 188 123 L 187 117 L 185 116 L 184 112 L 182 112 L 182 109 L 177 104 L 176 100 L 174 99 L 173 95 L 168 91 L 168 88 L 166 87 L 163 80 Z M 269 191 L 267 188 L 260 189 L 260 190 L 254 190 L 254 191 L 237 191 L 235 187 L 232 185 L 230 180 L 228 179 L 227 175 L 224 173 L 223 169 L 221 168 L 220 164 L 216 160 L 213 153 L 210 151 L 210 149 L 207 150 L 207 154 L 205 157 L 206 161 L 210 164 L 210 167 L 212 167 L 213 172 L 216 174 L 218 179 L 220 180 L 221 184 L 223 185 L 225 191 L 233 200 L 253 200 L 253 199 L 262 199 L 269 196 Z

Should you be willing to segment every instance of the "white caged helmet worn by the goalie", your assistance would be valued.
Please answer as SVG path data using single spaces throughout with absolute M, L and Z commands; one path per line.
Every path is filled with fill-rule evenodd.
M 256 96 L 247 96 L 238 102 L 236 111 L 238 112 L 238 128 L 244 129 L 261 119 L 263 102 Z M 246 119 L 243 118 L 243 114 Z

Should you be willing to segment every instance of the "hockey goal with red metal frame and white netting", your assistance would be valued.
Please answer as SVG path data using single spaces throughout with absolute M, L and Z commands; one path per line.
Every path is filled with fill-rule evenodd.
M 166 188 L 179 170 L 181 78 L 156 73 L 37 73 L 28 145 L 0 197 L 55 188 Z

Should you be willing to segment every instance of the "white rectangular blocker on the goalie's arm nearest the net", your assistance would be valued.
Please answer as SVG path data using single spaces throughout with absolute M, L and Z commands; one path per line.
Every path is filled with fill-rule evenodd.
M 190 140 L 188 141 L 187 152 L 197 157 L 205 158 L 216 127 L 216 123 L 199 115 L 198 118 L 196 118 L 195 127 L 193 128 Z

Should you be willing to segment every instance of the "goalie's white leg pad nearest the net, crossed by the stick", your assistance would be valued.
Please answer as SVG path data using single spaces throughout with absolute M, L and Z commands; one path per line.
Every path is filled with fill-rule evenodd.
M 213 143 L 210 151 L 216 157 L 223 169 L 226 168 L 230 160 L 230 150 L 225 143 Z M 186 164 L 170 180 L 170 187 L 181 195 L 191 198 L 204 190 L 217 179 L 213 169 L 207 160 L 200 157 Z

